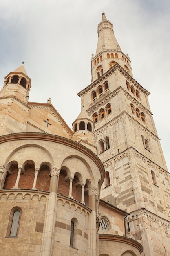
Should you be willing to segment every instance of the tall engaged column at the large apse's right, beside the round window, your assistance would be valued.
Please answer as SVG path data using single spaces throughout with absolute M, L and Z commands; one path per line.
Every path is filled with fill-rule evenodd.
M 90 218 L 90 256 L 97 256 L 97 230 L 96 230 L 96 197 L 97 189 L 89 191 L 90 208 L 92 209 Z

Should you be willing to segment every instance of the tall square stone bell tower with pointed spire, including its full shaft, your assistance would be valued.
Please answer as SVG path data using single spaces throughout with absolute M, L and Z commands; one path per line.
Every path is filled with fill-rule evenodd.
M 149 92 L 134 78 L 130 58 L 102 14 L 92 83 L 78 93 L 94 122 L 105 167 L 101 198 L 130 213 L 127 236 L 145 256 L 170 255 L 170 176 L 150 110 Z

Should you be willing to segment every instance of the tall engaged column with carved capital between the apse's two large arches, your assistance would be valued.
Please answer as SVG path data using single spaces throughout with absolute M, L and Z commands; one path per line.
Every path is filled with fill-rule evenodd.
M 53 235 L 55 230 L 55 218 L 56 218 L 56 198 L 58 189 L 58 177 L 60 174 L 60 168 L 53 168 L 51 172 L 50 181 L 50 194 L 47 205 L 46 222 L 44 238 L 42 239 L 42 256 L 51 256 L 53 247 Z

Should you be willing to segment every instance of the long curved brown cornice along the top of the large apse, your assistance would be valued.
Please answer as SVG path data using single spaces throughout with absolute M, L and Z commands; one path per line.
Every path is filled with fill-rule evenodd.
M 44 134 L 44 133 L 35 133 L 35 132 L 22 132 L 22 133 L 12 133 L 8 135 L 0 136 L 0 144 L 9 142 L 9 141 L 18 141 L 18 140 L 41 140 L 41 141 L 51 141 L 59 144 L 63 144 L 65 146 L 74 148 L 87 157 L 89 157 L 99 168 L 101 174 L 101 182 L 104 181 L 104 166 L 100 159 L 97 157 L 93 151 L 86 148 L 82 144 L 79 144 L 77 141 L 73 141 L 71 139 L 67 139 L 64 137 L 60 137 L 58 135 Z

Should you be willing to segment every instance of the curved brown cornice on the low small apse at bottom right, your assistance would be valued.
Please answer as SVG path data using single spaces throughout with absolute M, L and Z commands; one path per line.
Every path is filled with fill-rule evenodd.
M 143 252 L 143 247 L 139 242 L 137 242 L 131 238 L 127 238 L 126 236 L 99 234 L 99 241 L 110 241 L 110 242 L 124 243 L 124 244 L 131 245 L 132 247 L 135 247 L 136 249 L 138 249 L 140 254 Z

